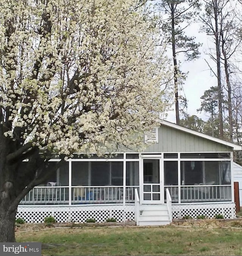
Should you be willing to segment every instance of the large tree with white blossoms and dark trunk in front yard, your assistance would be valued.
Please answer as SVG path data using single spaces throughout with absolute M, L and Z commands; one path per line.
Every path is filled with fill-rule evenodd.
M 135 147 L 164 112 L 169 65 L 138 2 L 0 0 L 0 242 L 64 158 Z

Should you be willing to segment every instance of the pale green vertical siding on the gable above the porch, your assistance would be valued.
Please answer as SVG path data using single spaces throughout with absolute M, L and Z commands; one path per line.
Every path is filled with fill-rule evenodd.
M 161 125 L 159 142 L 150 145 L 145 152 L 229 152 L 231 147 Z

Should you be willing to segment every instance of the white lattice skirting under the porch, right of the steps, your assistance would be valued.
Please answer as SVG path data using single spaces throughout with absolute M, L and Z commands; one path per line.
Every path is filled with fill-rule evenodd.
M 209 203 L 209 204 L 172 204 L 172 218 L 182 219 L 189 215 L 196 219 L 198 215 L 214 218 L 216 214 L 222 214 L 225 219 L 236 218 L 234 203 Z

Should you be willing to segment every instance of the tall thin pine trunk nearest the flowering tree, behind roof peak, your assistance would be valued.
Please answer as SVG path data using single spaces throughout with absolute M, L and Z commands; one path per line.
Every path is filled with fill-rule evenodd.
M 171 3 L 171 22 L 172 22 L 172 55 L 173 55 L 173 63 L 174 63 L 174 83 L 175 83 L 175 116 L 176 122 L 180 124 L 179 117 L 179 102 L 178 102 L 178 86 L 177 86 L 177 76 L 178 76 L 178 68 L 177 68 L 177 58 L 175 53 L 175 16 L 174 16 L 174 3 Z

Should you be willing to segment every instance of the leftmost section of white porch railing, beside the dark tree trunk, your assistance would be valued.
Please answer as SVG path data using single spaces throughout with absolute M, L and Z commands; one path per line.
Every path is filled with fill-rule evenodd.
M 68 195 L 67 186 L 38 186 L 29 191 L 20 204 L 66 204 Z

